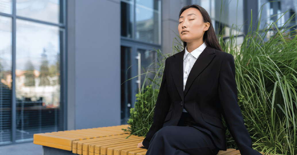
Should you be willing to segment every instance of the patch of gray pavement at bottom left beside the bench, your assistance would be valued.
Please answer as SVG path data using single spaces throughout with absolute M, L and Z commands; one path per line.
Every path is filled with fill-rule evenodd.
M 33 142 L 0 146 L 0 155 L 42 155 L 42 146 Z

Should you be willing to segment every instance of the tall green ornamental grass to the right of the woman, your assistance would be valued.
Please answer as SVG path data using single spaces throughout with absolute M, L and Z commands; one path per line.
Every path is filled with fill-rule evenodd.
M 286 27 L 288 23 L 281 28 L 272 23 L 262 30 L 258 26 L 240 46 L 231 33 L 230 41 L 219 39 L 223 50 L 234 55 L 245 125 L 255 149 L 266 154 L 297 153 L 297 35 L 296 29 Z M 268 32 L 274 35 L 266 40 Z M 228 147 L 234 148 L 229 132 L 227 137 Z

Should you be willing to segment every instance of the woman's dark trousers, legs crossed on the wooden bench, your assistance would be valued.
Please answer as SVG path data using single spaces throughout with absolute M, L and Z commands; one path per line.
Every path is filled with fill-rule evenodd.
M 146 155 L 216 155 L 219 149 L 206 133 L 191 127 L 194 119 L 183 112 L 177 126 L 166 126 L 152 137 Z

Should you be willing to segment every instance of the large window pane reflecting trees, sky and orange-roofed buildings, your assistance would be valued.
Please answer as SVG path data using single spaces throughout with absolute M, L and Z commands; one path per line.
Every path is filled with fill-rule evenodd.
M 16 21 L 16 141 L 60 124 L 59 27 Z

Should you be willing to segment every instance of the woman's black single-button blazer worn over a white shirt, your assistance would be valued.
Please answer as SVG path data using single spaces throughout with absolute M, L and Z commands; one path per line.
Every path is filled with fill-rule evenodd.
M 237 103 L 235 65 L 231 54 L 206 47 L 194 63 L 183 91 L 184 50 L 165 60 L 165 69 L 154 110 L 153 124 L 143 146 L 149 148 L 153 135 L 162 127 L 178 124 L 183 108 L 221 150 L 226 150 L 221 114 L 242 155 L 260 154 L 252 149 Z

